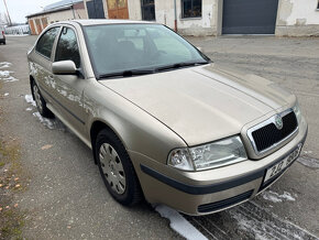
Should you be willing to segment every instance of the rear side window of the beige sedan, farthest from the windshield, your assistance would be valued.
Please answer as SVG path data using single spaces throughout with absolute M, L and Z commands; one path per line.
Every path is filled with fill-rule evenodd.
M 53 28 L 50 29 L 48 31 L 46 31 L 41 39 L 37 41 L 37 44 L 35 46 L 35 51 L 41 53 L 42 55 L 51 58 L 51 54 L 52 54 L 52 47 L 54 44 L 54 40 L 57 35 L 58 32 L 58 28 Z

